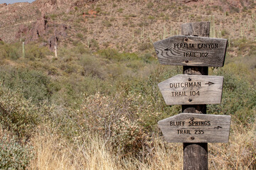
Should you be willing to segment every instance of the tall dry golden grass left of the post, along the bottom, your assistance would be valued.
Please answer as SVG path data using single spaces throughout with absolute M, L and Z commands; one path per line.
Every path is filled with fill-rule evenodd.
M 70 144 L 56 133 L 33 137 L 35 157 L 29 169 L 180 169 L 181 145 L 167 145 L 160 137 L 146 157 L 121 157 L 98 135 L 87 134 L 82 142 Z

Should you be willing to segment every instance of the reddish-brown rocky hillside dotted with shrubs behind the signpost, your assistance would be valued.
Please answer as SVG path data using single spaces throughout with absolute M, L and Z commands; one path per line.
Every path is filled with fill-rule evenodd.
M 94 43 L 136 51 L 179 34 L 181 23 L 211 21 L 212 37 L 254 40 L 255 8 L 253 1 L 37 0 L 2 5 L 0 38 L 49 45 L 57 36 L 63 46 Z

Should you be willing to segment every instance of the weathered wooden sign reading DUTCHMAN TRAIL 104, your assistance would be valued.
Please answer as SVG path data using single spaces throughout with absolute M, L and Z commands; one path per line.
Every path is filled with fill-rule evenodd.
M 221 102 L 223 77 L 178 74 L 158 84 L 167 105 Z

